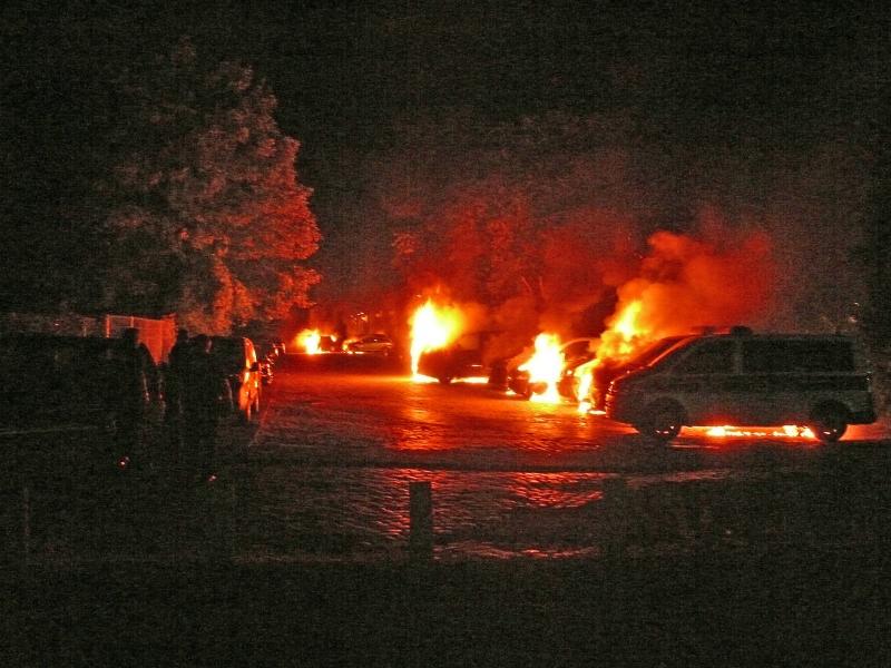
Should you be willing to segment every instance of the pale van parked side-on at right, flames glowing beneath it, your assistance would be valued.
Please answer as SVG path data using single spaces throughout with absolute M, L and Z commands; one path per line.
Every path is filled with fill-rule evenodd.
M 609 385 L 607 416 L 659 441 L 682 426 L 810 426 L 824 442 L 875 421 L 870 376 L 841 335 L 730 334 L 683 338 Z

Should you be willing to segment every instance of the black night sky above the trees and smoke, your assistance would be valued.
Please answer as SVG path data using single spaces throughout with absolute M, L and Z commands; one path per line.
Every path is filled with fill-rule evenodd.
M 351 279 L 344 254 L 361 227 L 364 179 L 400 119 L 620 114 L 684 151 L 794 156 L 829 141 L 865 165 L 889 73 L 882 3 L 118 4 L 2 10 L 2 224 L 22 264 L 53 205 L 88 177 L 107 72 L 183 35 L 204 57 L 253 65 L 277 96 L 281 128 L 302 143 L 300 177 L 314 188 L 325 238 L 314 262 L 334 278 L 329 295 Z

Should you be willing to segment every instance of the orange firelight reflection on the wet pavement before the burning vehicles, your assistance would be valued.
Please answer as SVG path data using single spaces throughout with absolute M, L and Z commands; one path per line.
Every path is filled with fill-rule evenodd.
M 659 537 L 642 549 L 683 551 L 718 530 L 704 498 L 732 488 L 748 507 L 753 489 L 785 490 L 843 448 L 684 435 L 654 448 L 570 405 L 382 374 L 276 371 L 272 394 L 252 449 L 246 559 L 401 559 L 418 480 L 432 487 L 440 559 L 597 556 L 616 477 L 635 499 L 628 517 Z M 747 525 L 722 521 L 725 538 Z

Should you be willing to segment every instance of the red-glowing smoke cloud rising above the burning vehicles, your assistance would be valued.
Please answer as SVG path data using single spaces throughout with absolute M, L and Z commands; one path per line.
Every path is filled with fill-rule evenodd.
M 521 336 L 595 335 L 634 294 L 668 330 L 657 321 L 844 325 L 856 272 L 830 277 L 822 261 L 844 267 L 834 261 L 859 242 L 845 223 L 863 197 L 852 147 L 756 160 L 638 129 L 620 115 L 403 124 L 369 164 L 389 256 L 356 262 L 390 264 L 408 298 L 435 288 L 483 304 Z

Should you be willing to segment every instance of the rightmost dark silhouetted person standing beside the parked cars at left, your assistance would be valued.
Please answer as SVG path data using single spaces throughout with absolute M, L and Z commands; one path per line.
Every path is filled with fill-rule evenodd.
M 223 377 L 210 355 L 213 341 L 199 334 L 189 346 L 186 382 L 183 393 L 185 446 L 194 453 L 197 472 L 203 480 L 214 477 L 216 426 Z

